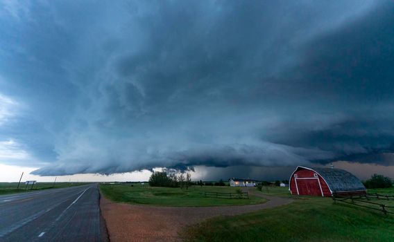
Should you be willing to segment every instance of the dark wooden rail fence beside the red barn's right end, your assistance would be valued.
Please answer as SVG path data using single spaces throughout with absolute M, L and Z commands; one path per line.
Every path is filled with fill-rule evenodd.
M 392 195 L 366 194 L 359 196 L 338 196 L 334 194 L 332 199 L 334 200 L 334 203 L 339 201 L 341 203 L 347 203 L 358 207 L 365 207 L 370 210 L 381 211 L 384 214 L 394 214 L 394 205 L 386 205 L 382 203 L 382 200 L 394 201 L 394 196 Z M 378 201 L 380 201 L 380 203 Z

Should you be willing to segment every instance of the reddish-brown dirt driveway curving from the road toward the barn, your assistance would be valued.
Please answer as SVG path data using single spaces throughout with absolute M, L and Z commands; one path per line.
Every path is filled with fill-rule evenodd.
M 266 196 L 269 201 L 257 205 L 221 207 L 156 207 L 114 203 L 101 196 L 101 210 L 107 223 L 110 241 L 178 241 L 185 225 L 219 215 L 237 215 L 291 203 L 289 198 Z

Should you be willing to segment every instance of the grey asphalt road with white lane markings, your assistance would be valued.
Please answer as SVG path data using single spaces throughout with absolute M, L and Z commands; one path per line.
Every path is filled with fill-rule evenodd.
M 97 184 L 0 196 L 0 241 L 107 241 Z

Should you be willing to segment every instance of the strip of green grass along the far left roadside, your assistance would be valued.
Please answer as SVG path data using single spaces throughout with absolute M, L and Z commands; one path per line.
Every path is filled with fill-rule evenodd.
M 18 183 L 0 183 L 0 195 L 4 194 L 15 194 L 19 192 L 31 192 L 31 191 L 39 191 L 42 189 L 50 189 L 50 188 L 63 188 L 63 187 L 74 187 L 74 186 L 79 186 L 79 185 L 86 185 L 89 183 L 55 183 L 53 186 L 53 183 L 36 183 L 33 187 L 33 190 L 31 190 L 31 185 L 28 185 L 28 189 L 25 190 L 26 185 L 24 183 L 21 183 L 18 187 Z

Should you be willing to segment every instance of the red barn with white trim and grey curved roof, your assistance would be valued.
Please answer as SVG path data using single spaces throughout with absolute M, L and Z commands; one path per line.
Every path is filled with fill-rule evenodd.
M 348 171 L 325 167 L 297 167 L 290 177 L 293 195 L 332 196 L 366 194 L 363 183 Z

